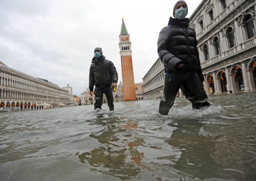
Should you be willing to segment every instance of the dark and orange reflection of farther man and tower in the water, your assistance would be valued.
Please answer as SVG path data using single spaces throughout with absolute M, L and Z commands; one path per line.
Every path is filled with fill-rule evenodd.
M 122 122 L 124 124 L 120 125 Z M 97 139 L 101 146 L 78 155 L 79 161 L 88 162 L 93 167 L 107 168 L 98 168 L 97 170 L 121 179 L 127 179 L 140 173 L 139 166 L 143 153 L 140 153 L 137 147 L 142 145 L 143 139 L 129 138 L 132 137 L 132 133 L 126 133 L 126 130 L 132 131 L 136 128 L 137 124 L 132 121 L 125 122 L 123 117 L 106 119 L 102 115 L 97 116 L 97 120 L 91 124 L 105 127 L 99 132 L 89 135 Z

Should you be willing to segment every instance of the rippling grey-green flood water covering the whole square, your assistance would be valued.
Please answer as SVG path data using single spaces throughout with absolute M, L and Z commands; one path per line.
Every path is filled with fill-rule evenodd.
M 0 180 L 256 180 L 256 92 L 0 114 Z

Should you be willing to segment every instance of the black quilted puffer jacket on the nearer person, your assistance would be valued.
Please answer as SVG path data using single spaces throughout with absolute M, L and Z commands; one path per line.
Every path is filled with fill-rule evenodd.
M 174 19 L 170 17 L 168 26 L 164 27 L 157 41 L 157 52 L 164 63 L 166 73 L 194 72 L 200 77 L 202 69 L 197 50 L 195 31 L 188 27 L 189 19 Z M 177 69 L 183 63 L 184 66 Z M 202 77 L 200 77 L 202 80 Z

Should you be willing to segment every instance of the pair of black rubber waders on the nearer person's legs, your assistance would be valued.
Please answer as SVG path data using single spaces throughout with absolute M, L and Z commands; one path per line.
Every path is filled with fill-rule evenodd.
M 204 87 L 196 72 L 169 74 L 164 77 L 164 94 L 159 105 L 160 114 L 168 114 L 179 89 L 192 103 L 194 109 L 210 105 Z

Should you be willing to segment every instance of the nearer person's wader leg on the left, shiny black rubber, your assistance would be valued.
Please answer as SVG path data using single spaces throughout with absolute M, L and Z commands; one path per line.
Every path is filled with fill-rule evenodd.
M 162 115 L 168 115 L 171 109 L 176 95 L 180 89 L 180 81 L 174 80 L 171 77 L 164 77 L 164 94 L 161 98 L 159 105 L 159 113 Z

